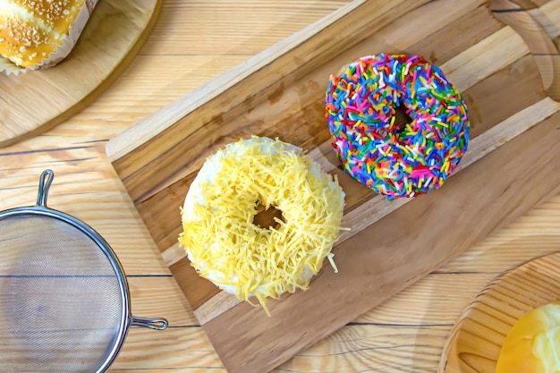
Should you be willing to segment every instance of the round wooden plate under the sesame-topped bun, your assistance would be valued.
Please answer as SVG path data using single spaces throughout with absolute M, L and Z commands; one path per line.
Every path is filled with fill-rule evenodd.
M 79 112 L 123 72 L 148 38 L 162 0 L 100 0 L 63 63 L 0 74 L 0 147 Z

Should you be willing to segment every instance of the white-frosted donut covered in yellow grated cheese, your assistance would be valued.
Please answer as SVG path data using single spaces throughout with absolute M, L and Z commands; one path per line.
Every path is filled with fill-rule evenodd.
M 258 205 L 281 212 L 253 223 Z M 344 192 L 301 149 L 280 140 L 240 140 L 208 157 L 182 208 L 179 242 L 200 276 L 242 301 L 306 290 L 338 237 Z M 252 303 L 251 303 L 252 304 Z

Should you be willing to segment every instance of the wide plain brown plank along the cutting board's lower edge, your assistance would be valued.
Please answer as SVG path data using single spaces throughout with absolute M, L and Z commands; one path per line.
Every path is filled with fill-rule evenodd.
M 549 172 L 560 174 L 560 165 L 554 165 L 557 154 L 539 159 L 539 148 L 560 151 L 556 145 L 560 140 L 556 122 L 560 114 L 553 118 L 456 174 L 448 181 L 454 189 L 441 189 L 415 199 L 336 245 L 339 273 L 323 271 L 308 292 L 296 292 L 282 301 L 271 302 L 271 313 L 280 317 L 267 319 L 259 309 L 241 303 L 205 324 L 205 331 L 226 367 L 232 371 L 259 371 L 260 367 L 282 359 L 278 351 L 295 353 L 300 345 L 307 347 L 309 344 L 304 343 L 314 343 L 316 338 L 344 326 L 348 319 L 378 305 L 537 204 L 546 194 L 539 196 L 533 192 L 535 188 L 557 191 L 560 176 L 556 180 L 548 178 Z M 555 139 L 548 137 L 555 132 Z M 541 142 L 543 136 L 550 142 Z M 527 157 L 528 153 L 522 151 L 525 148 L 532 148 L 535 158 Z M 534 170 L 519 177 L 518 167 L 528 170 L 528 165 L 537 164 L 544 167 L 540 172 Z M 531 181 L 532 178 L 538 180 Z M 500 188 L 492 191 L 485 188 L 488 184 Z M 481 190 L 485 190 L 484 196 L 479 194 Z M 460 193 L 455 194 L 457 191 Z M 503 211 L 507 213 L 500 213 Z M 441 216 L 445 216 L 445 222 Z M 457 225 L 457 221 L 465 225 Z M 407 227 L 406 233 L 402 226 Z M 305 309 L 305 315 L 299 314 L 299 309 Z M 320 323 L 313 324 L 314 320 Z M 232 340 L 249 346 L 244 344 L 245 348 L 240 350 L 229 343 Z M 259 347 L 263 344 L 267 348 Z M 270 350 L 270 346 L 274 349 Z

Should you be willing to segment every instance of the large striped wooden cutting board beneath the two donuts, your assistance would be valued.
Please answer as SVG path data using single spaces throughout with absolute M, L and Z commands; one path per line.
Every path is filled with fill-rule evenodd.
M 273 369 L 556 192 L 559 106 L 530 54 L 547 36 L 530 25 L 525 42 L 483 0 L 355 1 L 109 141 L 115 171 L 228 371 Z M 341 171 L 330 148 L 329 74 L 381 52 L 425 55 L 469 106 L 472 140 L 460 169 L 417 199 L 376 196 Z M 554 86 L 554 73 L 545 76 Z M 270 301 L 272 318 L 197 276 L 176 243 L 200 165 L 251 135 L 298 145 L 336 174 L 351 228 L 335 245 L 339 273 L 326 266 L 309 291 Z

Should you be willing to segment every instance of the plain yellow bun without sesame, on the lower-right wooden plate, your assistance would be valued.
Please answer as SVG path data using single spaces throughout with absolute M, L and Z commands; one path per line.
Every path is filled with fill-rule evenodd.
M 532 309 L 505 337 L 496 373 L 560 371 L 560 302 Z

